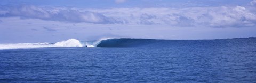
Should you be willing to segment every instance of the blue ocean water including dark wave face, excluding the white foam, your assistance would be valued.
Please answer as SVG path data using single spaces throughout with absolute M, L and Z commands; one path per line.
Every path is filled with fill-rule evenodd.
M 256 39 L 108 39 L 0 50 L 0 82 L 256 82 Z

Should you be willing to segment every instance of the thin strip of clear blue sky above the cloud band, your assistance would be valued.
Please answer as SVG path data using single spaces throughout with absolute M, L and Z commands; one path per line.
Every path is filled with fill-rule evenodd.
M 186 6 L 223 6 L 246 5 L 251 0 L 2 0 L 1 5 L 37 5 L 37 6 L 62 6 L 79 8 L 113 8 L 113 7 L 176 7 L 181 4 Z M 184 6 L 184 5 L 182 5 Z

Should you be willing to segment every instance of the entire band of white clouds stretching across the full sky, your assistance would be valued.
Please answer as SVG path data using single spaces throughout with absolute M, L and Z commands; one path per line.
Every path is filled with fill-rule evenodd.
M 127 25 L 166 25 L 171 27 L 256 26 L 253 8 L 243 6 L 189 8 L 108 8 L 69 9 L 22 6 L 9 8 L 2 17 L 18 16 L 60 22 Z M 2 10 L 6 11 L 6 10 Z

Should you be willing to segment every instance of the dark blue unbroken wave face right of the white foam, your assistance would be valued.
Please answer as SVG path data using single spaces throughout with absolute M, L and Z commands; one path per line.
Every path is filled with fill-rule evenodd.
M 219 42 L 241 42 L 241 41 L 255 41 L 255 38 L 238 38 L 238 39 L 214 39 L 214 40 L 159 40 L 159 39 L 132 39 L 132 38 L 109 38 L 101 40 L 95 46 L 96 47 L 154 47 L 154 48 L 164 48 L 173 47 L 175 45 L 190 46 L 197 45 L 203 46 L 209 43 L 219 43 Z

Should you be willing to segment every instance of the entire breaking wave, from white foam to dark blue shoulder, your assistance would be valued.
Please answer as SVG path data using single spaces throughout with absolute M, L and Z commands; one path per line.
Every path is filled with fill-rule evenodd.
M 245 38 L 246 40 L 249 40 Z M 220 39 L 220 40 L 156 40 L 156 39 L 132 39 L 132 38 L 102 38 L 100 40 L 81 42 L 77 39 L 68 39 L 56 43 L 16 43 L 16 44 L 0 44 L 2 49 L 26 49 L 26 48 L 46 48 L 46 47 L 171 47 L 174 45 L 193 45 L 207 44 L 205 42 L 229 41 L 236 39 Z M 243 39 L 239 39 L 243 40 Z M 255 39 L 250 39 L 255 40 Z M 198 43 L 199 42 L 199 43 Z

